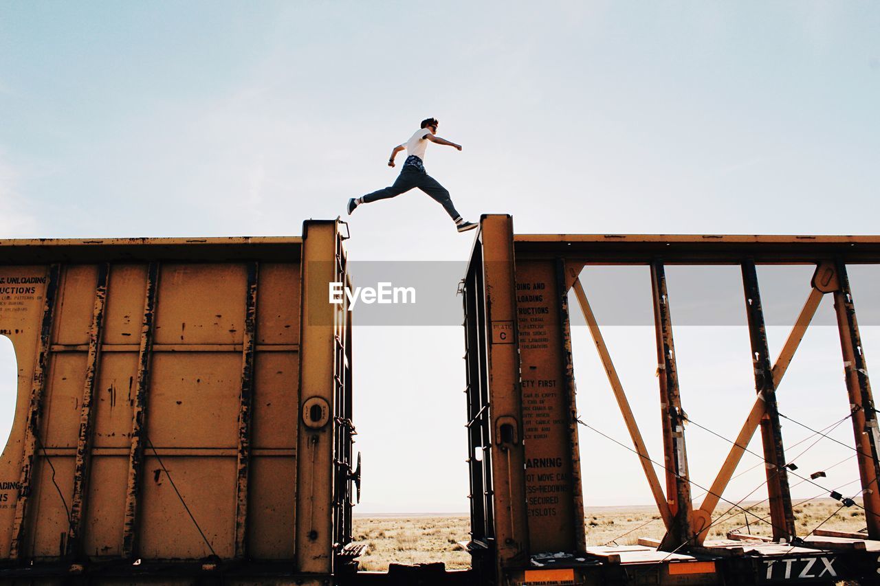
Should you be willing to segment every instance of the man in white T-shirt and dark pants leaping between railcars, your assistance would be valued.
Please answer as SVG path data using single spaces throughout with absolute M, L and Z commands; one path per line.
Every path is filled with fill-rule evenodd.
M 444 138 L 436 136 L 438 125 L 439 122 L 434 118 L 423 120 L 422 128 L 417 130 L 406 143 L 394 147 L 394 150 L 391 151 L 391 157 L 388 159 L 389 167 L 394 166 L 394 157 L 397 157 L 397 153 L 401 150 L 407 150 L 407 153 L 409 153 L 407 160 L 403 163 L 403 168 L 400 170 L 400 175 L 398 175 L 397 180 L 394 181 L 394 185 L 391 187 L 385 187 L 385 189 L 379 189 L 371 194 L 366 194 L 363 197 L 353 197 L 348 200 L 349 216 L 351 215 L 351 212 L 355 211 L 355 208 L 362 203 L 386 200 L 396 195 L 406 193 L 414 187 L 418 187 L 428 194 L 432 200 L 444 207 L 446 213 L 449 214 L 452 221 L 455 222 L 459 232 L 473 230 L 473 228 L 477 227 L 476 223 L 465 222 L 465 220 L 458 215 L 458 211 L 456 211 L 455 206 L 452 205 L 452 200 L 450 199 L 449 192 L 446 188 L 437 183 L 436 179 L 425 172 L 423 161 L 425 160 L 425 150 L 428 148 L 429 141 L 431 143 L 445 144 L 461 150 L 460 144 L 450 143 Z

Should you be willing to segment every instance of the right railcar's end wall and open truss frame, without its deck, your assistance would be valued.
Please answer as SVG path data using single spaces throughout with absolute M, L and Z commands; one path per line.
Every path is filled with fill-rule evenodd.
M 880 444 L 847 265 L 880 264 L 878 237 L 514 235 L 510 216 L 483 216 L 465 297 L 472 552 L 493 551 L 494 573 L 530 555 L 585 548 L 568 292 L 583 311 L 615 399 L 666 527 L 659 549 L 705 551 L 712 513 L 760 429 L 774 541 L 796 538 L 776 389 L 810 321 L 831 295 L 840 333 L 868 538 L 880 539 Z M 650 268 L 656 327 L 664 482 L 642 439 L 581 282 L 588 265 Z M 741 268 L 757 397 L 700 507 L 687 467 L 682 399 L 672 336 L 669 265 Z M 757 265 L 814 265 L 807 298 L 771 362 Z M 809 285 L 809 286 L 808 286 Z M 548 495 L 548 496 L 547 496 Z M 475 555 L 475 560 L 479 555 Z M 479 565 L 475 562 L 475 568 Z

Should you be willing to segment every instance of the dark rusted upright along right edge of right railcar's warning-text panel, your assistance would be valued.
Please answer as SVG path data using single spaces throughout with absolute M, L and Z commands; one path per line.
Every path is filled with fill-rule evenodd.
M 571 355 L 571 319 L 568 313 L 568 285 L 565 260 L 556 260 L 556 290 L 559 292 L 559 322 L 562 339 L 562 373 L 565 378 L 566 402 L 568 403 L 568 450 L 571 454 L 571 487 L 573 530 L 575 548 L 583 552 L 587 547 L 586 516 L 583 511 L 583 481 L 581 477 L 581 447 L 577 438 L 577 388 L 575 363 Z

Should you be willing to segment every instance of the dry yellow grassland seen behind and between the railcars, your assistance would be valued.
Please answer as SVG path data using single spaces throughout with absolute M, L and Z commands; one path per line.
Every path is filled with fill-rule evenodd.
M 723 503 L 722 503 L 723 505 Z M 715 517 L 726 508 L 719 505 Z M 749 504 L 743 504 L 750 509 Z M 806 535 L 818 524 L 823 529 L 860 531 L 865 527 L 864 511 L 859 507 L 840 509 L 840 502 L 818 499 L 795 508 L 797 531 Z M 753 514 L 752 514 L 753 513 Z M 725 538 L 728 531 L 770 535 L 770 525 L 757 517 L 769 519 L 765 505 L 751 509 L 745 526 L 742 509 L 730 511 L 709 530 L 709 538 Z M 830 518 L 829 518 L 830 517 Z M 587 543 L 633 545 L 640 537 L 662 538 L 663 522 L 652 507 L 604 507 L 587 509 Z M 354 539 L 367 545 L 361 556 L 362 570 L 385 570 L 391 562 L 406 564 L 442 561 L 446 568 L 470 568 L 471 557 L 458 545 L 469 538 L 467 516 L 356 516 Z

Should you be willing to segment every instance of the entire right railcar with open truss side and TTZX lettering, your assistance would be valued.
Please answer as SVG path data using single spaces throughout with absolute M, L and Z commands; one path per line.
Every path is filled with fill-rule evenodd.
M 876 583 L 880 571 L 880 447 L 864 348 L 855 317 L 847 265 L 880 264 L 877 237 L 719 235 L 516 235 L 510 216 L 482 216 L 461 292 L 464 297 L 467 372 L 467 461 L 470 470 L 471 541 L 468 549 L 480 583 L 530 584 L 748 584 Z M 672 336 L 666 265 L 732 265 L 741 268 L 744 313 L 751 340 L 754 407 L 707 496 L 692 502 L 678 366 Z M 781 354 L 771 362 L 755 267 L 812 265 L 806 302 Z M 658 412 L 664 453 L 651 458 L 620 384 L 612 355 L 590 309 L 581 271 L 588 265 L 650 268 L 656 330 Z M 662 540 L 638 546 L 586 543 L 583 494 L 590 478 L 580 469 L 571 353 L 569 293 L 583 311 L 634 452 L 642 464 Z M 863 296 L 876 295 L 864 291 Z M 819 302 L 831 296 L 840 333 L 854 452 L 867 521 L 863 533 L 810 531 L 798 536 L 776 407 L 776 386 L 806 332 Z M 746 354 L 747 355 L 747 354 Z M 828 355 L 840 364 L 840 355 Z M 828 397 L 829 403 L 835 398 Z M 847 397 L 837 399 L 847 406 Z M 588 426 L 589 427 L 589 426 Z M 772 535 L 755 539 L 729 533 L 707 539 L 715 506 L 760 429 Z M 627 447 L 627 446 L 624 446 Z M 660 470 L 660 476 L 655 470 Z M 802 477 L 803 478 L 803 477 Z M 818 486 L 818 485 L 817 485 Z M 832 492 L 846 506 L 853 499 Z M 737 503 L 726 500 L 734 507 Z M 861 506 L 861 505 L 858 505 Z

